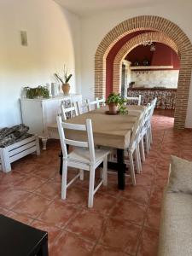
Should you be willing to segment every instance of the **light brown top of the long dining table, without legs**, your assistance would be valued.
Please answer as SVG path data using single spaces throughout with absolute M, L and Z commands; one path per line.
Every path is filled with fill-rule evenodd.
M 129 113 L 125 115 L 106 114 L 108 108 L 104 107 L 67 119 L 66 122 L 83 125 L 86 119 L 91 119 L 95 145 L 124 149 L 128 148 L 131 131 L 145 107 L 127 106 L 127 108 Z M 48 125 L 48 131 L 51 137 L 59 138 L 56 124 Z M 65 136 L 75 140 L 86 139 L 84 131 L 66 130 Z

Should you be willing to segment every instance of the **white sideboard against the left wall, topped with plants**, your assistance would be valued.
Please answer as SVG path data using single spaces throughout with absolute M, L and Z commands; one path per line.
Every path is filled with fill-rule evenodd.
M 46 142 L 50 137 L 47 125 L 56 122 L 56 116 L 60 113 L 61 102 L 67 100 L 82 102 L 82 95 L 61 95 L 48 99 L 20 99 L 22 122 L 29 126 L 30 133 L 42 137 L 44 149 L 46 149 Z

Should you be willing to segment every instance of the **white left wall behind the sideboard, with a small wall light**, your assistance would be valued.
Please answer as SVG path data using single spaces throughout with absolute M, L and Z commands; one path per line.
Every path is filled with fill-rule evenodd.
M 54 81 L 64 63 L 73 73 L 72 92 L 78 91 L 79 27 L 79 18 L 52 0 L 0 1 L 0 127 L 20 123 L 21 88 Z M 20 30 L 27 32 L 27 47 Z

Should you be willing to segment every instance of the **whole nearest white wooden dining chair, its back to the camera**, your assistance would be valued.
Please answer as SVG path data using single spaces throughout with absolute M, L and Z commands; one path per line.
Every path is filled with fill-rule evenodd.
M 57 125 L 61 140 L 61 148 L 63 154 L 62 165 L 62 181 L 61 181 L 61 199 L 67 197 L 67 188 L 77 179 L 84 179 L 84 171 L 90 172 L 89 182 L 89 199 L 88 207 L 93 207 L 93 199 L 97 189 L 103 184 L 108 184 L 108 154 L 109 151 L 102 148 L 94 148 L 93 131 L 91 119 L 86 119 L 85 125 L 76 125 L 62 122 L 61 116 L 57 116 Z M 65 129 L 73 130 L 74 132 L 87 132 L 87 141 L 81 142 L 65 137 Z M 67 145 L 73 146 L 73 151 L 67 153 Z M 103 162 L 102 180 L 95 188 L 95 172 L 96 168 Z M 67 167 L 79 169 L 79 174 L 67 183 Z

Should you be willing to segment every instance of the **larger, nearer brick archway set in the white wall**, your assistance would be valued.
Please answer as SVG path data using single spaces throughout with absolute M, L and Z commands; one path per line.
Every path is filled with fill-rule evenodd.
M 137 16 L 115 26 L 96 49 L 95 55 L 95 96 L 105 96 L 106 57 L 113 45 L 125 35 L 142 30 L 164 33 L 177 47 L 180 55 L 180 72 L 178 78 L 177 101 L 175 109 L 175 127 L 184 128 L 189 86 L 192 71 L 192 44 L 185 33 L 172 21 L 159 16 Z

